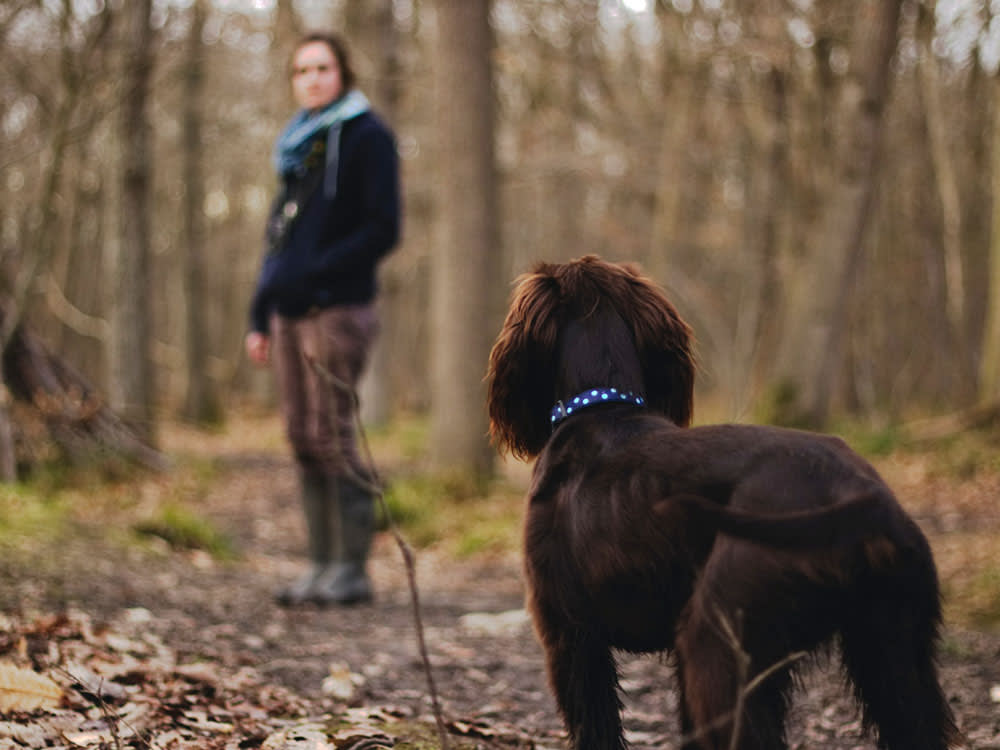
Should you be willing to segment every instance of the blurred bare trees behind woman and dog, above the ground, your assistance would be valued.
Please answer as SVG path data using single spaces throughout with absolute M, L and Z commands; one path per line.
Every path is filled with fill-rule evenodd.
M 995 0 L 2 0 L 8 381 L 25 323 L 154 443 L 270 403 L 242 340 L 311 28 L 402 157 L 365 417 L 427 415 L 439 466 L 491 470 L 512 280 L 590 252 L 667 288 L 712 416 L 992 414 Z

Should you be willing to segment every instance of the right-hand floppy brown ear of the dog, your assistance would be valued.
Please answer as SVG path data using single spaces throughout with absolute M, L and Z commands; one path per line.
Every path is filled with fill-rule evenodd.
M 635 266 L 623 267 L 629 277 L 628 296 L 616 307 L 635 337 L 649 407 L 687 427 L 694 410 L 691 328 L 652 279 Z

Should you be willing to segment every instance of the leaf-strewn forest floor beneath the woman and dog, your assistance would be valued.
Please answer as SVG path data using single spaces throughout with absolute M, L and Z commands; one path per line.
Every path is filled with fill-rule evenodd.
M 373 604 L 282 609 L 272 591 L 303 569 L 304 530 L 274 419 L 219 434 L 173 429 L 164 448 L 186 468 L 111 489 L 95 484 L 63 501 L 64 520 L 43 520 L 0 548 L 0 665 L 21 669 L 0 671 L 0 750 L 439 747 L 392 536 L 376 540 Z M 376 458 L 390 481 L 406 471 L 392 450 L 377 449 Z M 1000 748 L 1000 629 L 997 619 L 986 623 L 1000 612 L 1000 474 L 947 478 L 916 458 L 879 468 L 938 556 L 949 597 L 942 680 L 968 747 Z M 469 502 L 519 515 L 526 472 L 510 461 L 507 469 L 501 490 Z M 137 537 L 143 519 L 166 505 L 207 519 L 235 554 L 220 559 Z M 17 509 L 11 498 L 0 508 Z M 563 746 L 522 609 L 516 542 L 463 554 L 453 542 L 416 550 L 449 744 Z M 870 750 L 875 743 L 832 662 L 803 675 L 791 747 Z M 620 665 L 632 746 L 679 747 L 669 662 L 622 656 Z M 55 703 L 4 703 L 19 685 L 45 692 L 25 687 L 27 670 L 49 675 Z

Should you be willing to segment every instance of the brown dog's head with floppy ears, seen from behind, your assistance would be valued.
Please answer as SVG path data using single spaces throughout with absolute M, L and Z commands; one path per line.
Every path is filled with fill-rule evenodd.
M 586 256 L 521 276 L 490 353 L 490 434 L 501 450 L 538 455 L 550 410 L 587 388 L 645 396 L 680 426 L 691 421 L 691 330 L 631 264 Z

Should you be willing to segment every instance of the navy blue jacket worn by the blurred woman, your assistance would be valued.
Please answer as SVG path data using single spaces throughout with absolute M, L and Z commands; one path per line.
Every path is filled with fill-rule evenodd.
M 320 164 L 315 168 L 326 168 Z M 284 178 L 272 220 L 296 179 Z M 398 242 L 400 228 L 399 158 L 388 127 L 370 111 L 346 121 L 332 199 L 318 182 L 282 246 L 264 258 L 250 304 L 252 330 L 267 333 L 272 312 L 298 318 L 375 298 L 376 266 Z

